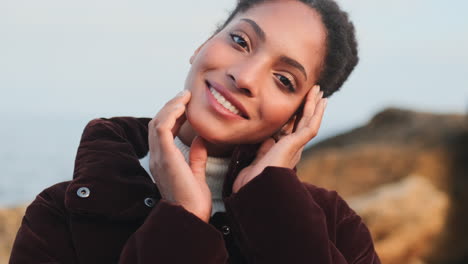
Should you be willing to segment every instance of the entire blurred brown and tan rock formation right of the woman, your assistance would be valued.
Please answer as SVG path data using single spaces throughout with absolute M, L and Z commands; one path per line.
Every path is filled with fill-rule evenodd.
M 347 201 L 364 195 L 368 199 L 368 208 L 377 210 L 380 207 L 379 225 L 375 225 L 370 216 L 364 220 L 370 221 L 366 223 L 378 242 L 378 252 L 388 263 L 468 263 L 468 229 L 465 227 L 468 223 L 468 115 L 387 109 L 362 127 L 306 149 L 297 169 L 302 180 L 336 190 Z M 401 196 L 395 196 L 402 199 L 398 204 L 413 206 L 415 210 L 414 214 L 406 216 L 407 207 L 394 210 L 392 204 L 379 205 L 380 198 L 366 196 L 373 190 L 386 193 L 385 188 L 414 188 L 414 179 L 405 181 L 413 177 L 411 175 L 419 175 L 426 181 L 423 184 L 426 187 L 421 187 L 426 191 L 420 190 L 424 195 L 443 192 L 448 209 L 442 210 L 440 204 L 434 208 L 418 208 L 416 205 L 421 201 L 438 204 L 437 199 L 433 201 L 431 197 L 416 197 L 411 192 L 403 192 Z M 354 206 L 359 210 L 359 206 Z M 404 221 L 422 221 L 429 209 L 434 213 L 434 222 L 418 229 L 407 228 L 411 224 Z M 443 219 L 442 224 L 440 219 Z M 441 231 L 434 235 L 440 224 Z M 392 236 L 397 227 L 399 239 Z M 433 245 L 431 250 L 427 249 L 427 244 Z M 405 247 L 414 250 L 408 252 L 408 258 L 403 261 L 401 254 L 406 251 Z

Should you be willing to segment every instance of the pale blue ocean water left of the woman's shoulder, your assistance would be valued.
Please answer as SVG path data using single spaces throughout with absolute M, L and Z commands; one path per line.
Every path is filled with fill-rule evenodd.
M 0 207 L 29 204 L 43 189 L 72 179 L 89 117 L 0 119 Z

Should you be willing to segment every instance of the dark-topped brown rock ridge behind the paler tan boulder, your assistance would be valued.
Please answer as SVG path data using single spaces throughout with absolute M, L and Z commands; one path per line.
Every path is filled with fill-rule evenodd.
M 447 190 L 453 141 L 467 121 L 466 115 L 387 109 L 365 126 L 306 149 L 298 174 L 345 198 L 411 174 Z

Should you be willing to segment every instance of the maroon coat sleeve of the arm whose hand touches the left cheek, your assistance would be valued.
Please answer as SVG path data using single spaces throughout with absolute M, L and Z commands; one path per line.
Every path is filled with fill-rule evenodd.
M 227 256 L 221 232 L 182 206 L 161 200 L 125 244 L 119 263 L 222 264 Z

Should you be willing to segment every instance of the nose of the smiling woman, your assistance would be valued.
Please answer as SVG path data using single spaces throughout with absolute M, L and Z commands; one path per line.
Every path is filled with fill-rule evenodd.
M 250 58 L 232 65 L 228 69 L 227 75 L 242 93 L 249 97 L 255 97 L 262 85 L 262 78 L 266 76 L 265 66 L 261 60 Z

